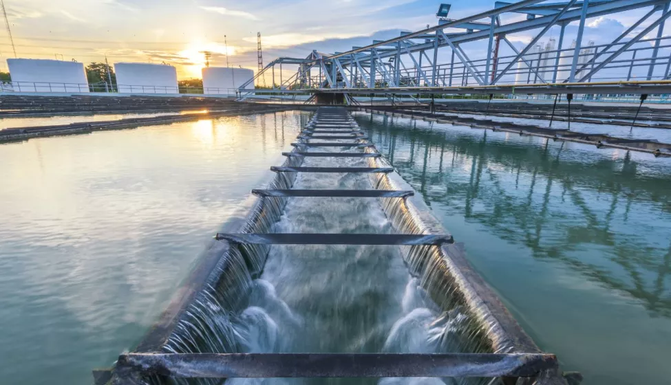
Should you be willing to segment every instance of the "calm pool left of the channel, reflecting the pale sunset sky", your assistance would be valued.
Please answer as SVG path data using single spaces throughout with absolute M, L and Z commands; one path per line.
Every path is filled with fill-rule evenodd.
M 0 145 L 0 382 L 89 384 L 92 368 L 138 342 L 306 119 L 253 115 Z

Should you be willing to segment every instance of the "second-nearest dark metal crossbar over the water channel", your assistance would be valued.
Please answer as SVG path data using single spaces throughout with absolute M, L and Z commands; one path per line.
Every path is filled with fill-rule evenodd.
M 228 234 L 217 232 L 217 241 L 253 245 L 442 245 L 454 243 L 451 235 L 429 234 Z

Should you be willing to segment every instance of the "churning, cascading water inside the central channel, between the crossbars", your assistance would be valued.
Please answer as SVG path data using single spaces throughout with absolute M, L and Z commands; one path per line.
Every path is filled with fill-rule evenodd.
M 335 149 L 334 149 L 335 148 Z M 361 151 L 314 147 L 310 151 Z M 288 157 L 284 166 L 381 166 L 376 159 Z M 385 175 L 278 173 L 269 188 L 390 188 Z M 393 187 L 392 187 L 393 188 Z M 403 199 L 264 197 L 243 232 L 406 233 L 427 229 Z M 166 353 L 492 352 L 435 246 L 231 247 L 162 347 Z M 499 349 L 500 351 L 500 349 Z M 152 378 L 152 383 L 224 380 Z M 339 382 L 230 379 L 228 383 Z M 361 379 L 379 384 L 496 384 L 491 379 Z M 352 382 L 348 379 L 347 383 Z

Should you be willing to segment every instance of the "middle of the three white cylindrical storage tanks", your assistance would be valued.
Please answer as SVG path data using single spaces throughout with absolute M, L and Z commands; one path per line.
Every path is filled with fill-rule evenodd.
M 179 94 L 177 69 L 171 65 L 115 63 L 118 91 L 132 94 Z

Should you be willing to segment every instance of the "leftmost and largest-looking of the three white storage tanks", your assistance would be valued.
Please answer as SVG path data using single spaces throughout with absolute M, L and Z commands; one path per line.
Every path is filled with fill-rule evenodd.
M 83 63 L 48 59 L 7 59 L 14 91 L 88 92 Z

